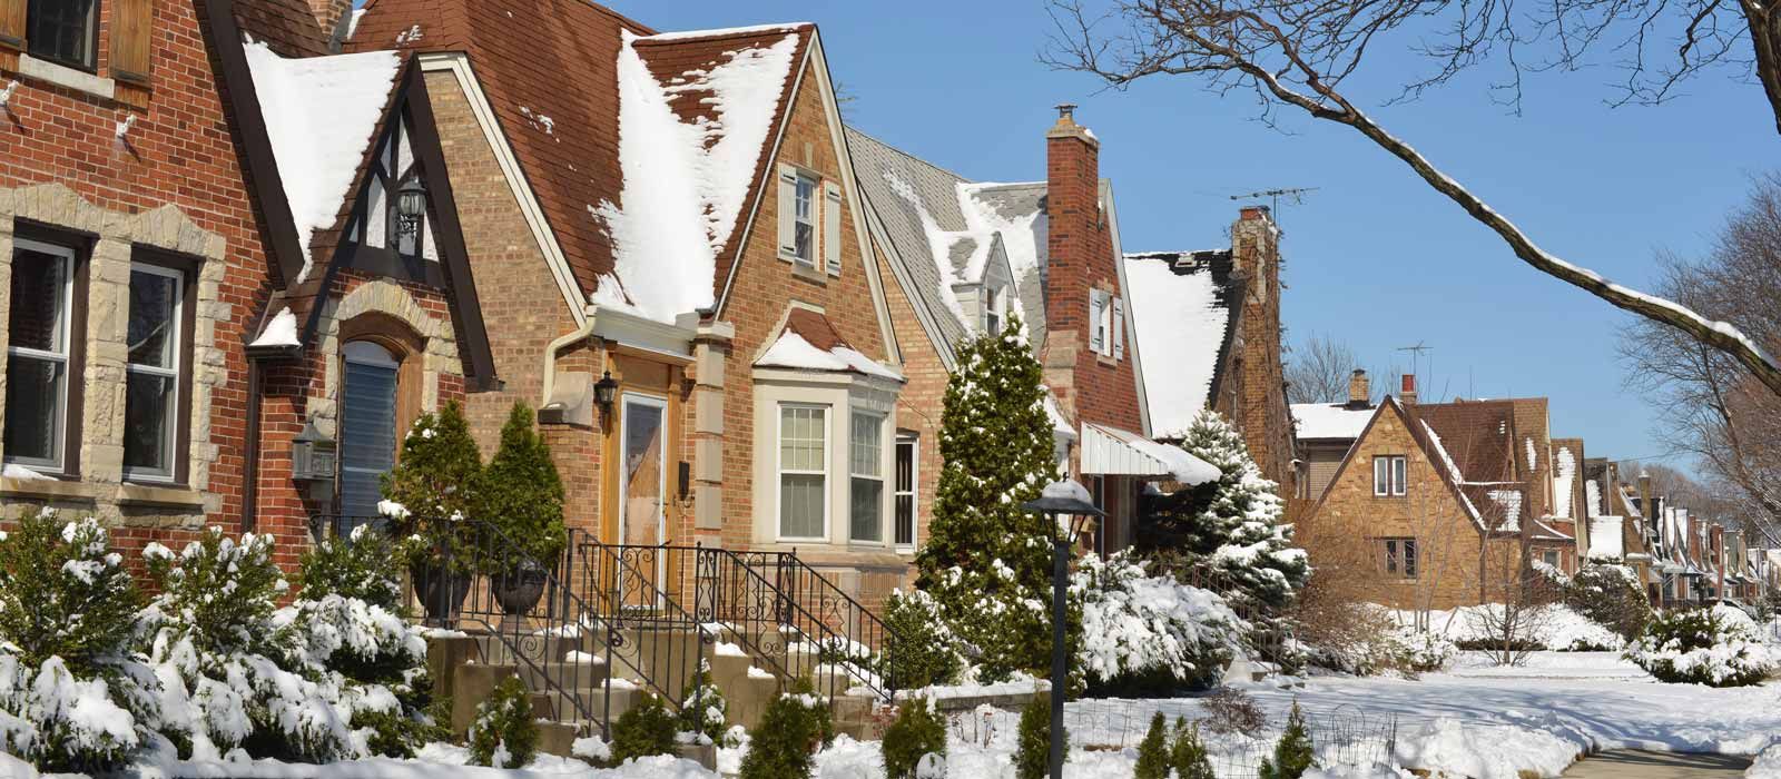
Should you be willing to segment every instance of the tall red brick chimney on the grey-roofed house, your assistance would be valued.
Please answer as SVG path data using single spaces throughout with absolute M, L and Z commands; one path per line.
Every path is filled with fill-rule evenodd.
M 1088 290 L 1118 293 L 1111 244 L 1101 219 L 1101 141 L 1076 123 L 1076 105 L 1058 105 L 1045 132 L 1045 357 L 1047 370 L 1069 373 L 1094 365 L 1088 354 Z M 1053 388 L 1078 382 L 1047 375 Z

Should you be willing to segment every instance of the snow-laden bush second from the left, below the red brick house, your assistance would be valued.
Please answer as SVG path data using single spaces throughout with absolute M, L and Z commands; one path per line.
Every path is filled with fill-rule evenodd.
M 198 759 L 235 747 L 297 761 L 354 754 L 340 687 L 299 672 L 299 640 L 274 619 L 289 583 L 271 537 L 210 528 L 180 553 L 150 544 L 144 557 L 160 594 L 142 624 L 169 735 Z

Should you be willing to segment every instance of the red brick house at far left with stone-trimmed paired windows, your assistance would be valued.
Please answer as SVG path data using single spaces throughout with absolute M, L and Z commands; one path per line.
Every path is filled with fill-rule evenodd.
M 303 2 L 248 12 L 326 52 Z M 281 562 L 303 542 L 255 521 L 246 341 L 290 267 L 232 133 L 233 30 L 228 2 L 0 2 L 0 503 L 96 514 L 130 558 L 210 525 L 274 532 Z

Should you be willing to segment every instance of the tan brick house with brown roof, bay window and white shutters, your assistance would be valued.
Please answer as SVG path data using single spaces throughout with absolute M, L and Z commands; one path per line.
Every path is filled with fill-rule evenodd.
M 404 53 L 433 105 L 493 334 L 484 452 L 524 400 L 588 539 L 796 550 L 867 605 L 903 580 L 937 409 L 903 397 L 814 25 L 374 0 L 346 48 Z

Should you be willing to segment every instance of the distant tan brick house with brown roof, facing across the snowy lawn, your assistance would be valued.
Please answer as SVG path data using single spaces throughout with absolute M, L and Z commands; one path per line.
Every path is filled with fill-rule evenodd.
M 1300 521 L 1311 564 L 1350 571 L 1368 599 L 1400 608 L 1500 598 L 1523 569 L 1512 441 L 1509 402 L 1387 397 Z

